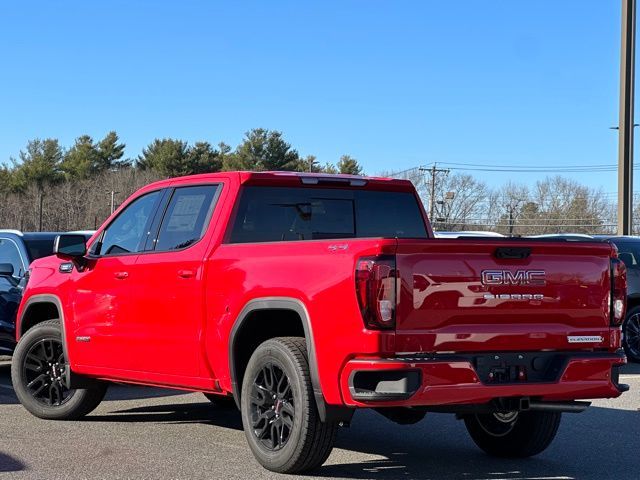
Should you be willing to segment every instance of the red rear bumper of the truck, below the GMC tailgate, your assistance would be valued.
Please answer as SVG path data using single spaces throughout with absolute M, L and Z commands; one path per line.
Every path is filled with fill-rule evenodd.
M 533 358 L 535 354 L 523 355 Z M 509 397 L 541 401 L 613 398 L 628 389 L 618 382 L 618 368 L 626 363 L 622 352 L 556 352 L 562 361 L 552 381 L 505 383 L 488 381 L 487 371 L 479 365 L 480 356 L 486 354 L 355 358 L 341 374 L 343 400 L 351 407 L 468 405 Z

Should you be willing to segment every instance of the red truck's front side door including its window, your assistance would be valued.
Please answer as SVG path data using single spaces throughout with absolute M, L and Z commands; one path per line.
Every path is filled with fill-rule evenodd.
M 136 363 L 144 338 L 134 317 L 142 285 L 135 264 L 163 194 L 131 201 L 90 246 L 85 268 L 71 273 L 73 333 L 67 336 L 74 364 L 129 370 Z

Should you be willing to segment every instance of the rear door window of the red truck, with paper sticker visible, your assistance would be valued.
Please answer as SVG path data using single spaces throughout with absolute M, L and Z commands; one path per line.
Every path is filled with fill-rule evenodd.
M 218 185 L 176 188 L 162 219 L 155 250 L 179 250 L 200 240 L 218 188 Z

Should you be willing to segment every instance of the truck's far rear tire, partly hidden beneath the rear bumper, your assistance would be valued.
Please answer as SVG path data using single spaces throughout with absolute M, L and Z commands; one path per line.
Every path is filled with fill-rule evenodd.
M 558 412 L 512 412 L 467 415 L 464 423 L 475 444 L 495 457 L 531 457 L 553 441 L 562 415 Z

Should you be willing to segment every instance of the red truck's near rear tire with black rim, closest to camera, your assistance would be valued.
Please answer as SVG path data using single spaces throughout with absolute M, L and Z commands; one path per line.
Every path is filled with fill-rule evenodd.
M 242 382 L 241 412 L 249 447 L 267 470 L 313 470 L 333 449 L 338 425 L 320 421 L 303 338 L 274 338 L 253 352 Z

